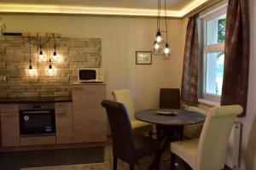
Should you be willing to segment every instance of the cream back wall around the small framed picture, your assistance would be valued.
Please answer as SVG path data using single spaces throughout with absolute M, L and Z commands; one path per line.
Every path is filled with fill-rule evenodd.
M 61 37 L 102 38 L 102 66 L 108 99 L 115 88 L 130 88 L 136 109 L 158 105 L 159 88 L 179 88 L 183 61 L 183 21 L 169 20 L 170 60 L 152 56 L 152 65 L 136 65 L 137 50 L 151 50 L 156 19 L 81 15 L 2 14 L 7 31 L 59 32 Z M 164 23 L 164 22 L 163 22 Z M 162 25 L 164 26 L 164 25 Z

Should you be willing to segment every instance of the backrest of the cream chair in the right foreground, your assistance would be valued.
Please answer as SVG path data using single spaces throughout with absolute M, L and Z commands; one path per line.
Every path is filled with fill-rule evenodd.
M 224 161 L 231 129 L 236 116 L 241 114 L 240 105 L 212 107 L 207 112 L 198 145 L 196 169 L 216 170 L 224 168 Z

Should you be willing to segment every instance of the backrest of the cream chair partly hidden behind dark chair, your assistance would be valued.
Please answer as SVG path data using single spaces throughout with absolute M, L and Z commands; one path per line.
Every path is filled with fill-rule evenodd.
M 113 90 L 112 94 L 114 101 L 124 104 L 130 119 L 135 120 L 131 91 L 129 89 L 119 89 Z

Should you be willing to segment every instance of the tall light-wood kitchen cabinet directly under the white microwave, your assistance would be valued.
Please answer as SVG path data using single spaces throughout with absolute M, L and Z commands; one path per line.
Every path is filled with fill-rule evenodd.
M 107 141 L 107 115 L 101 105 L 106 98 L 103 83 L 73 84 L 73 142 Z

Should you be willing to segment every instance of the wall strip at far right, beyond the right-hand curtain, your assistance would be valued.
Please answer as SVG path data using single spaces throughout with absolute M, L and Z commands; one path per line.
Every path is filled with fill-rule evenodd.
M 250 73 L 247 98 L 247 116 L 243 122 L 241 146 L 241 170 L 256 169 L 256 2 L 248 0 L 250 20 Z

